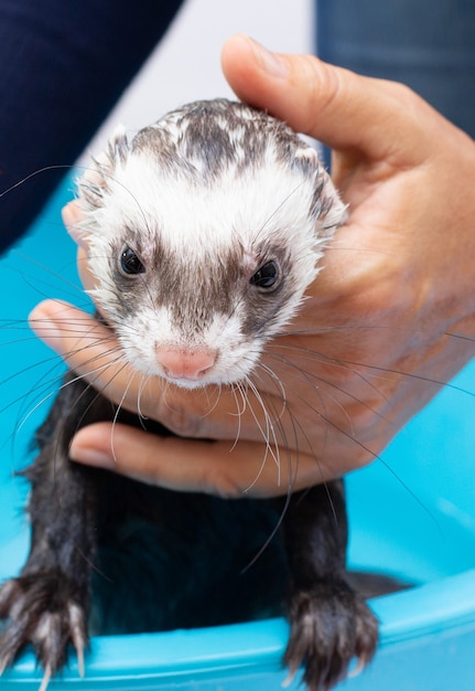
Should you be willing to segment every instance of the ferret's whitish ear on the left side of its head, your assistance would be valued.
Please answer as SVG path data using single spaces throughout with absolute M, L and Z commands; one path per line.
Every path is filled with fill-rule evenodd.
M 91 166 L 77 180 L 79 198 L 93 209 L 104 206 L 104 200 L 116 170 L 127 162 L 129 141 L 123 125 L 116 127 L 107 149 L 91 158 Z

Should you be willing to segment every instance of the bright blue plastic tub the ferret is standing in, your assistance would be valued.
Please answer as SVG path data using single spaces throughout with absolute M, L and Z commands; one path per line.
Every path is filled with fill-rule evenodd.
M 83 299 L 75 287 L 75 248 L 60 219 L 68 188 L 54 196 L 32 235 L 0 262 L 1 580 L 19 571 L 29 540 L 21 511 L 24 486 L 12 471 L 22 464 L 32 429 L 45 414 L 44 406 L 34 405 L 61 371 L 51 352 L 32 339 L 24 319 L 43 297 L 79 305 Z M 64 277 L 72 283 L 65 284 Z M 363 674 L 338 689 L 475 689 L 475 368 L 466 368 L 453 384 L 399 434 L 384 463 L 348 477 L 350 564 L 389 572 L 417 586 L 371 602 L 381 621 L 378 653 Z M 277 690 L 285 679 L 280 660 L 287 635 L 285 623 L 272 619 L 98 637 L 86 658 L 86 677 L 78 678 L 72 658 L 51 689 Z M 3 674 L 0 688 L 37 689 L 41 678 L 26 652 Z M 298 688 L 298 680 L 291 688 Z

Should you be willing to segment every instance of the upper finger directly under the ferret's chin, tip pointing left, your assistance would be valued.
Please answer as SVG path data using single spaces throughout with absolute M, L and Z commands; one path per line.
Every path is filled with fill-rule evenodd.
M 231 440 L 239 432 L 253 440 L 265 434 L 266 412 L 252 393 L 246 395 L 245 405 L 231 387 L 187 391 L 161 376 L 143 379 L 125 359 L 110 329 L 66 302 L 41 302 L 30 315 L 30 326 L 71 370 L 107 398 L 160 421 L 175 434 Z M 276 406 L 282 406 L 280 398 Z

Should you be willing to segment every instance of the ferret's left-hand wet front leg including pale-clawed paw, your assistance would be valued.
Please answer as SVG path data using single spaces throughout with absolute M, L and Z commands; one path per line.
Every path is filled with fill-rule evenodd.
M 64 665 L 69 644 L 82 672 L 88 644 L 95 470 L 73 464 L 67 454 L 77 421 L 85 419 L 97 394 L 71 380 L 39 430 L 41 450 L 25 472 L 32 485 L 26 564 L 19 577 L 0 588 L 0 617 L 7 619 L 0 637 L 0 672 L 31 644 L 45 670 L 43 688 Z

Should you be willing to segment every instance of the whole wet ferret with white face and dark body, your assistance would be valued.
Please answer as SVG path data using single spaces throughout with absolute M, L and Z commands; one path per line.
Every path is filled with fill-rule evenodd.
M 131 140 L 118 128 L 77 187 L 91 297 L 123 360 L 144 381 L 258 390 L 266 346 L 291 325 L 345 220 L 315 150 L 263 111 L 196 102 Z M 283 662 L 291 676 L 303 667 L 310 691 L 334 687 L 354 657 L 359 666 L 371 659 L 378 627 L 345 570 L 341 481 L 290 500 L 156 489 L 68 459 L 77 429 L 98 421 L 171 434 L 65 375 L 25 472 L 31 551 L 0 589 L 0 670 L 32 644 L 45 689 L 71 645 L 83 672 L 90 630 L 222 624 L 266 616 L 276 602 L 290 625 Z M 242 573 L 280 520 L 279 535 Z M 121 585 L 131 564 L 134 587 Z M 140 623 L 126 603 L 147 610 Z

